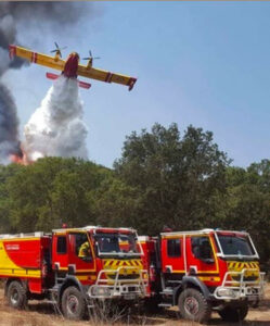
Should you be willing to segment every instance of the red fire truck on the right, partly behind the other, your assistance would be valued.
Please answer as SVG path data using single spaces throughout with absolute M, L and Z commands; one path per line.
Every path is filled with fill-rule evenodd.
M 169 231 L 139 241 L 152 308 L 178 305 L 183 318 L 202 323 L 216 310 L 226 322 L 237 322 L 263 294 L 263 273 L 247 233 Z

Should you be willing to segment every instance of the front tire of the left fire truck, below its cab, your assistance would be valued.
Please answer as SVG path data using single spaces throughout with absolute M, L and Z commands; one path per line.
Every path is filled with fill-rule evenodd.
M 86 301 L 76 287 L 68 287 L 62 296 L 62 311 L 66 318 L 80 321 L 86 314 Z

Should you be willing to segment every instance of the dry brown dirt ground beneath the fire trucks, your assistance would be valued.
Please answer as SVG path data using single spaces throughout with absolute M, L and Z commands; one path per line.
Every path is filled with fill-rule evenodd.
M 112 325 L 112 322 L 102 323 L 103 325 Z M 128 319 L 118 322 L 117 325 L 172 325 L 172 326 L 197 326 L 196 323 L 189 323 L 178 319 L 175 310 L 166 311 L 163 315 L 137 315 Z M 101 325 L 100 322 L 70 322 L 64 319 L 55 313 L 53 306 L 46 302 L 31 302 L 28 311 L 17 311 L 9 308 L 3 298 L 3 290 L 0 289 L 0 326 L 87 326 Z M 116 324 L 115 324 L 116 325 Z M 224 326 L 218 314 L 214 313 L 209 322 L 211 326 Z M 236 326 L 239 324 L 230 324 Z M 270 285 L 267 287 L 266 298 L 259 308 L 250 309 L 248 315 L 241 324 L 242 326 L 270 326 Z

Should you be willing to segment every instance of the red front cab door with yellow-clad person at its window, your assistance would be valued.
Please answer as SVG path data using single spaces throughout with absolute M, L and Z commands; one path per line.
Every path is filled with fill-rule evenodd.
M 87 233 L 68 234 L 68 268 L 81 283 L 94 279 L 95 261 Z

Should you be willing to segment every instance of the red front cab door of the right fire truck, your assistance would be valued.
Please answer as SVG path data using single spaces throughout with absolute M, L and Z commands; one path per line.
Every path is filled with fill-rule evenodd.
M 208 235 L 187 237 L 187 272 L 211 280 L 219 273 L 214 248 Z

